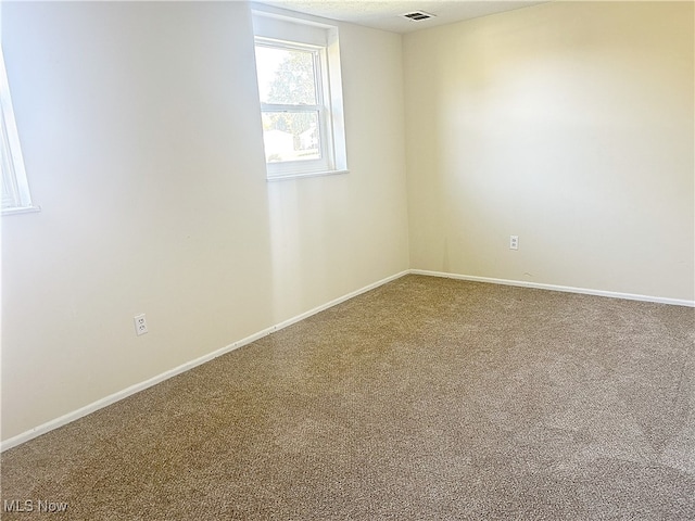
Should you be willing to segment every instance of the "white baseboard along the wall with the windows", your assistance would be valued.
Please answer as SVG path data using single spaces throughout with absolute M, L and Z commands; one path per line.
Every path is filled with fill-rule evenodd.
M 101 399 L 98 399 L 97 402 L 92 402 L 89 405 L 86 405 L 85 407 L 81 407 L 77 410 L 74 410 L 72 412 L 67 412 L 66 415 L 63 415 L 59 418 L 55 418 L 51 421 L 47 421 L 46 423 L 42 423 L 38 427 L 35 427 L 33 429 L 29 429 L 28 431 L 25 431 L 21 434 L 17 434 L 16 436 L 10 437 L 3 442 L 0 443 L 0 452 L 4 452 L 8 450 L 12 447 L 16 447 L 17 445 L 21 445 L 25 442 L 28 442 L 29 440 L 33 440 L 35 437 L 40 436 L 41 434 L 46 434 L 47 432 L 50 432 L 54 429 L 58 429 L 59 427 L 63 427 L 66 425 L 67 423 L 78 420 L 79 418 L 83 418 L 91 412 L 94 412 L 99 409 L 102 409 L 109 405 L 112 405 L 116 402 L 119 402 L 124 398 L 127 398 L 128 396 L 136 394 L 140 391 L 144 391 L 148 387 L 151 387 L 152 385 L 156 385 L 157 383 L 163 382 L 164 380 L 168 380 L 172 377 L 176 377 L 177 374 L 180 374 L 182 372 L 186 372 L 190 369 L 193 369 L 194 367 L 198 367 L 202 364 L 205 364 L 206 361 L 210 361 L 214 358 L 217 358 L 218 356 L 222 356 L 224 354 L 227 354 L 231 351 L 238 350 L 239 347 L 242 347 L 247 344 L 250 344 L 252 342 L 255 342 L 258 339 L 262 339 L 263 336 L 266 336 L 270 333 L 274 333 L 276 331 L 279 331 L 281 329 L 287 328 L 288 326 L 291 326 L 293 323 L 299 322 L 300 320 L 304 320 L 305 318 L 311 317 L 312 315 L 316 315 L 317 313 L 320 313 L 325 309 L 328 309 L 329 307 L 336 306 L 337 304 L 341 304 L 345 301 L 349 301 L 350 298 L 353 298 L 362 293 L 366 293 L 367 291 L 374 290 L 375 288 L 378 288 L 380 285 L 386 284 L 387 282 L 391 282 L 392 280 L 399 279 L 401 277 L 403 277 L 404 275 L 408 275 L 408 270 L 405 271 L 401 271 L 400 274 L 395 274 L 392 275 L 390 277 L 387 277 L 386 279 L 381 279 L 377 282 L 374 282 L 371 284 L 365 285 L 364 288 L 361 288 L 356 291 L 353 291 L 351 293 L 348 293 L 346 295 L 340 296 L 338 298 L 334 298 L 330 302 L 327 302 L 326 304 L 323 304 L 318 307 L 315 307 L 313 309 L 309 309 L 308 312 L 302 313 L 301 315 L 298 315 L 295 317 L 289 318 L 287 320 L 283 320 L 282 322 L 279 322 L 275 326 L 270 326 L 269 328 L 263 329 L 261 331 L 258 331 L 257 333 L 251 334 L 250 336 L 247 336 L 245 339 L 239 340 L 237 342 L 233 342 L 225 347 L 222 347 L 220 350 L 214 351 L 212 353 L 208 353 L 207 355 L 201 356 L 200 358 L 195 358 L 194 360 L 190 360 L 187 361 L 186 364 L 181 364 L 178 367 L 175 367 L 173 369 L 169 369 L 167 371 L 162 372 L 161 374 L 157 374 L 153 378 L 150 378 L 149 380 L 146 380 L 143 382 L 140 383 L 136 383 L 134 385 L 130 385 L 129 387 L 126 387 L 122 391 L 118 391 L 114 394 L 111 394 L 109 396 L 105 396 Z

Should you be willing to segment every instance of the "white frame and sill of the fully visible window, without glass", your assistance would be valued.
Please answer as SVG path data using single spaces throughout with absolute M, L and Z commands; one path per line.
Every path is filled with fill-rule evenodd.
M 279 11 L 279 10 L 278 10 Z M 338 28 L 277 11 L 253 11 L 255 46 L 312 52 L 316 105 L 260 103 L 264 112 L 318 113 L 320 158 L 267 162 L 268 180 L 348 171 Z

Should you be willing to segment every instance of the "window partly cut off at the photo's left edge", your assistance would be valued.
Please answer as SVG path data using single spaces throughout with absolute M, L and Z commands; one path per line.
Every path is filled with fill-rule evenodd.
M 31 205 L 29 186 L 24 171 L 24 160 L 20 149 L 20 137 L 14 122 L 4 54 L 0 48 L 0 140 L 2 142 L 2 213 L 36 211 Z

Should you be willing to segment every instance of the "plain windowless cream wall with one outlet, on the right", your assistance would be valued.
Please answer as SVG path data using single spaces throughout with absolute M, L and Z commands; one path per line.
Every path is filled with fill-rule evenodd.
M 692 301 L 693 18 L 552 2 L 404 36 L 410 267 Z

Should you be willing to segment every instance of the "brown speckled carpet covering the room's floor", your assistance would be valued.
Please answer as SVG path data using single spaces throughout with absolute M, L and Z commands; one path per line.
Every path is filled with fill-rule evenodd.
M 692 520 L 694 344 L 692 308 L 407 276 L 5 452 L 3 519 Z

